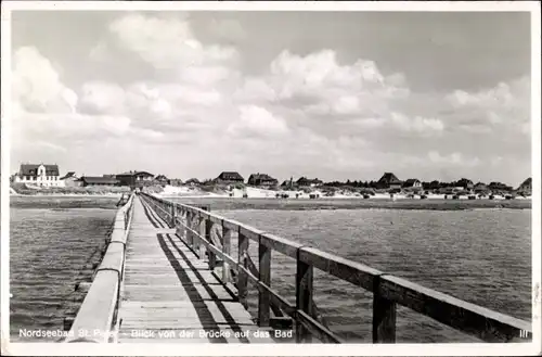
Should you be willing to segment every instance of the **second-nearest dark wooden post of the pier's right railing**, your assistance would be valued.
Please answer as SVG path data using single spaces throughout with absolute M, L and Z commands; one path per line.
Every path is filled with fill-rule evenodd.
M 296 269 L 296 309 L 311 315 L 312 313 L 312 279 L 313 268 L 299 259 L 299 250 L 297 255 Z M 311 342 L 312 335 L 296 318 L 296 342 Z

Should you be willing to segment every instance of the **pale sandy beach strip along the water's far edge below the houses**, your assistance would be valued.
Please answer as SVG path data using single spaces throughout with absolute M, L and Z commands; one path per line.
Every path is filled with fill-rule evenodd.
M 469 209 L 531 209 L 532 199 L 530 196 L 516 196 L 505 200 L 504 196 L 495 195 L 494 200 L 479 199 L 468 200 L 461 195 L 452 199 L 450 195 L 430 193 L 425 199 L 420 196 L 408 196 L 404 193 L 395 194 L 375 193 L 364 197 L 360 193 L 341 191 L 332 195 L 325 195 L 320 190 L 294 191 L 294 190 L 267 190 L 247 187 L 245 189 L 233 189 L 231 191 L 219 190 L 209 192 L 194 187 L 166 186 L 162 190 L 149 190 L 147 193 L 165 200 L 215 200 L 227 203 L 233 209 L 418 209 L 418 211 L 469 211 Z M 10 193 L 10 197 L 18 201 L 47 200 L 47 199 L 115 199 L 130 192 L 77 192 L 57 193 L 41 191 L 31 194 Z M 278 197 L 278 194 L 286 194 L 287 197 Z M 16 199 L 25 197 L 25 199 Z M 31 201 L 30 201 L 31 202 Z

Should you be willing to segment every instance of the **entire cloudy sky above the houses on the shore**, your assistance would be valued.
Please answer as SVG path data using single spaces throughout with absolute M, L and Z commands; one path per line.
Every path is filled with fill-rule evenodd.
M 530 14 L 13 12 L 11 170 L 531 175 Z

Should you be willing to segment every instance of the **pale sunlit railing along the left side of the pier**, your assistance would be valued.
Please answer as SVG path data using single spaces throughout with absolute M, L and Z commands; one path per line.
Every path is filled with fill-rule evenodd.
M 126 239 L 134 194 L 117 211 L 102 262 L 72 323 L 65 342 L 116 342 L 117 309 L 124 280 Z

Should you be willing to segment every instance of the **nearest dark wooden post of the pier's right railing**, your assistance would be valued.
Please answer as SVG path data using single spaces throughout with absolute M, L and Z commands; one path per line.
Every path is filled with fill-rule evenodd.
M 395 343 L 397 305 L 380 295 L 379 284 L 380 277 L 374 277 L 373 343 Z

